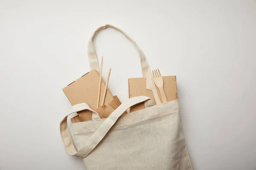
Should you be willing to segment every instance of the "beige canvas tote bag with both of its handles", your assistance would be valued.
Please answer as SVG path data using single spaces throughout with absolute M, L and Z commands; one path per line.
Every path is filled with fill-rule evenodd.
M 95 33 L 107 27 L 122 32 L 106 25 Z M 88 45 L 90 67 L 99 70 L 92 39 Z M 132 42 L 139 51 L 143 77 L 146 77 L 150 69 L 148 62 Z M 122 115 L 141 102 L 145 109 Z M 67 153 L 81 157 L 86 170 L 192 170 L 181 129 L 178 100 L 154 105 L 149 97 L 134 97 L 123 102 L 107 119 L 100 119 L 98 113 L 81 103 L 73 105 L 69 115 L 82 110 L 92 111 L 93 120 L 72 124 L 74 141 L 67 127 L 67 116 L 60 123 L 60 131 Z

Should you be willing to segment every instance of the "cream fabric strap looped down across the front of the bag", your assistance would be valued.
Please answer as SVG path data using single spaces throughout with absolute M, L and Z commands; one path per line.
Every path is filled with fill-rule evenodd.
M 78 151 L 76 151 L 73 142 L 70 138 L 70 133 L 67 127 L 67 116 L 65 116 L 60 123 L 60 132 L 67 153 L 71 156 L 74 155 L 81 158 L 86 157 L 104 138 L 104 136 L 108 133 L 108 130 L 110 130 L 110 128 L 116 123 L 117 119 L 122 115 L 122 113 L 124 113 L 131 106 L 141 102 L 145 102 L 145 107 L 150 107 L 154 105 L 154 101 L 147 96 L 138 96 L 128 99 L 126 102 L 122 103 L 118 108 L 116 108 L 116 110 L 113 111 L 107 119 L 105 119 L 102 125 L 99 126 L 99 128 L 93 133 L 90 139 Z M 73 109 L 71 109 L 71 112 L 72 111 Z M 71 113 L 69 113 L 68 115 L 70 114 Z

